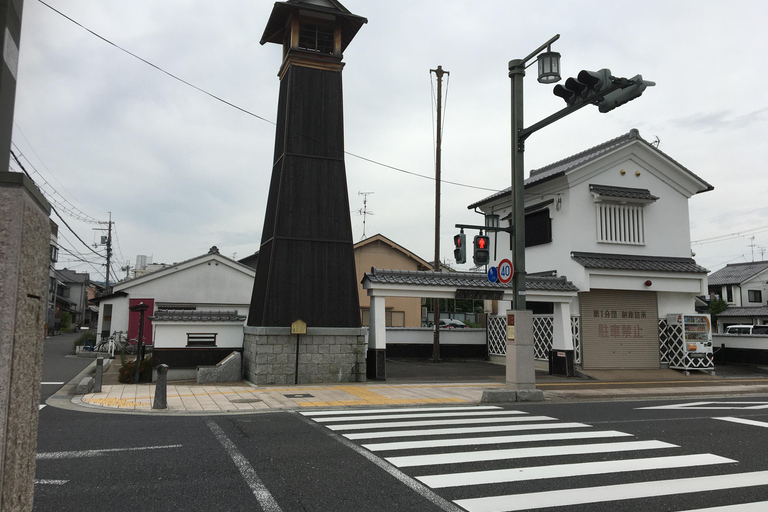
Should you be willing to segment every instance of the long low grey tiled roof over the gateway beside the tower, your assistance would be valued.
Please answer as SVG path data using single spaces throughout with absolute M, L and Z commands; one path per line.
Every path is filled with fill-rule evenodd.
M 372 268 L 365 274 L 371 283 L 413 284 L 421 286 L 456 286 L 477 289 L 510 289 L 512 283 L 491 283 L 488 276 L 479 272 L 434 272 L 431 270 L 384 270 Z M 579 291 L 573 283 L 564 277 L 528 276 L 526 289 L 538 291 L 571 292 Z

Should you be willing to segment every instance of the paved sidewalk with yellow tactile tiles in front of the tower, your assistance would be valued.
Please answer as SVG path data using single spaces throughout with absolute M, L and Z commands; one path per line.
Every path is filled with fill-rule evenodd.
M 92 375 L 94 363 L 51 397 L 49 404 L 93 412 L 236 414 L 315 407 L 472 404 L 480 402 L 483 391 L 505 386 L 504 368 L 481 361 L 438 365 L 411 363 L 410 366 L 418 366 L 415 372 L 413 368 L 404 371 L 398 366 L 409 365 L 407 362 L 387 363 L 386 382 L 271 387 L 254 386 L 245 381 L 215 385 L 175 381 L 167 387 L 168 408 L 152 409 L 155 385 L 119 384 L 116 378 L 119 360 L 115 360 L 104 374 L 101 393 L 72 396 L 73 383 L 76 386 L 83 376 Z M 683 372 L 668 369 L 603 370 L 568 378 L 551 376 L 546 363 L 537 361 L 536 364 L 536 386 L 544 392 L 548 402 L 686 396 L 700 400 L 714 396 L 768 394 L 768 371 L 751 366 L 723 366 L 716 368 L 715 375 L 692 372 L 686 376 Z M 446 372 L 456 378 L 449 379 Z

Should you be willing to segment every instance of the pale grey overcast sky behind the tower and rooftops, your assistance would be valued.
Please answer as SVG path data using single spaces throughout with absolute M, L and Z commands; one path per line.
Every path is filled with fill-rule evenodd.
M 278 100 L 278 45 L 259 45 L 268 0 L 39 0 L 24 4 L 14 151 L 87 244 L 115 223 L 115 263 L 173 263 L 216 245 L 258 250 Z M 768 3 L 690 1 L 346 0 L 364 25 L 344 54 L 351 220 L 425 260 L 434 257 L 435 79 L 441 65 L 441 259 L 452 263 L 456 223 L 481 223 L 467 205 L 510 184 L 507 64 L 555 34 L 563 77 L 610 68 L 657 83 L 608 113 L 586 107 L 528 139 L 535 169 L 638 128 L 646 140 L 715 187 L 689 202 L 699 264 L 768 258 Z M 564 103 L 525 81 L 525 124 Z M 246 112 L 244 112 L 246 111 Z M 358 158 L 359 157 L 363 158 Z M 378 163 L 373 163 L 378 162 Z M 380 165 L 384 164 L 384 165 Z M 18 166 L 12 168 L 18 170 Z M 526 171 L 527 176 L 527 171 Z M 58 206 L 57 206 L 58 205 Z M 74 207 L 74 209 L 72 209 Z M 81 215 L 82 218 L 82 215 Z M 103 275 L 96 255 L 59 219 L 58 268 Z M 739 234 L 739 236 L 728 236 Z M 750 237 L 754 235 L 754 240 Z M 751 247 L 754 245 L 754 247 Z M 96 249 L 103 253 L 103 248 Z M 90 254 L 90 256 L 88 256 Z M 754 255 L 754 256 L 753 256 Z M 464 266 L 468 268 L 468 266 Z M 124 276 L 124 272 L 120 272 Z

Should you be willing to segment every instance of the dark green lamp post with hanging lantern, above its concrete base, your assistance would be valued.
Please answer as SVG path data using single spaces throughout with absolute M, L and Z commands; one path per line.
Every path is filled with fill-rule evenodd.
M 513 307 L 525 309 L 525 138 L 523 129 L 523 77 L 526 63 L 539 56 L 539 82 L 552 84 L 560 80 L 560 54 L 551 50 L 551 45 L 560 34 L 541 45 L 524 59 L 509 61 L 509 78 L 512 79 L 512 250 L 515 275 L 512 280 Z M 542 53 L 544 49 L 546 52 Z M 541 54 L 541 55 L 539 55 Z

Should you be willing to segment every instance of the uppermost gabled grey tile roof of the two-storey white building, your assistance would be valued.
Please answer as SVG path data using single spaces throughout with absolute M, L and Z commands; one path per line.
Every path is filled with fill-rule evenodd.
M 565 158 L 558 162 L 551 163 L 540 169 L 531 170 L 530 177 L 527 180 L 525 180 L 525 188 L 529 188 L 539 183 L 543 183 L 545 181 L 563 176 L 566 173 L 573 171 L 579 167 L 582 167 L 583 165 L 586 165 L 589 162 L 597 160 L 598 158 L 601 158 L 612 151 L 615 151 L 619 148 L 622 148 L 624 146 L 627 146 L 635 142 L 642 143 L 648 148 L 650 148 L 652 151 L 662 155 L 665 159 L 674 163 L 674 165 L 676 165 L 684 173 L 688 174 L 694 180 L 698 181 L 700 183 L 701 188 L 698 190 L 697 193 L 706 192 L 708 190 L 714 189 L 712 185 L 710 185 L 700 177 L 696 176 L 694 173 L 692 173 L 691 171 L 689 171 L 688 169 L 680 165 L 678 162 L 676 162 L 673 158 L 670 158 L 669 155 L 665 154 L 663 151 L 660 151 L 658 148 L 651 145 L 648 141 L 640 137 L 640 131 L 637 130 L 636 128 L 631 129 L 629 133 L 625 133 L 620 137 L 616 137 L 615 139 L 611 139 L 607 142 L 603 142 L 602 144 L 589 148 L 585 151 L 582 151 L 581 153 L 577 153 L 575 155 L 569 156 L 568 158 Z M 481 199 L 476 203 L 470 204 L 467 208 L 470 210 L 473 210 L 479 206 L 482 206 L 486 203 L 494 201 L 500 197 L 509 195 L 511 190 L 512 190 L 511 187 L 507 187 L 506 189 L 496 192 L 495 194 L 490 195 L 485 199 Z

